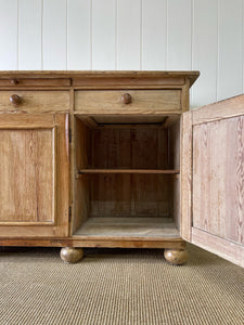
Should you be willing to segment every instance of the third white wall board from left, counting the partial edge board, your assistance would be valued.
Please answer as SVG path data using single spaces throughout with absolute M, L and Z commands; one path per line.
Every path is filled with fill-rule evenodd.
M 43 0 L 43 69 L 67 68 L 66 0 Z

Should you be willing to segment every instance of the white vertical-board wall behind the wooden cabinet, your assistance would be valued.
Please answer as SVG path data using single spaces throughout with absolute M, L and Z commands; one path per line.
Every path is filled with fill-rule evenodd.
M 243 93 L 244 0 L 0 0 L 0 69 L 191 70 L 191 106 Z

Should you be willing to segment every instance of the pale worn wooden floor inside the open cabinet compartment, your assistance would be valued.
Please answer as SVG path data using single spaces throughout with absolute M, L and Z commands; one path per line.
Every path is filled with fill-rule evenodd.
M 170 218 L 89 218 L 75 236 L 179 237 Z

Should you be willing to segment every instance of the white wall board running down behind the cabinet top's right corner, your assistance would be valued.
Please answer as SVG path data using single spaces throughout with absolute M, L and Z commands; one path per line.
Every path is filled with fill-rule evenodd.
M 217 99 L 218 0 L 194 1 L 192 27 L 192 68 L 201 78 L 192 88 L 191 106 L 198 107 Z

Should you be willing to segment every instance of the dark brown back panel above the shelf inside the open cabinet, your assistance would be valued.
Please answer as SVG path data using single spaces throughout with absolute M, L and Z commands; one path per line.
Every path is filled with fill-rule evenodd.
M 95 129 L 91 138 L 91 168 L 168 168 L 165 129 Z

